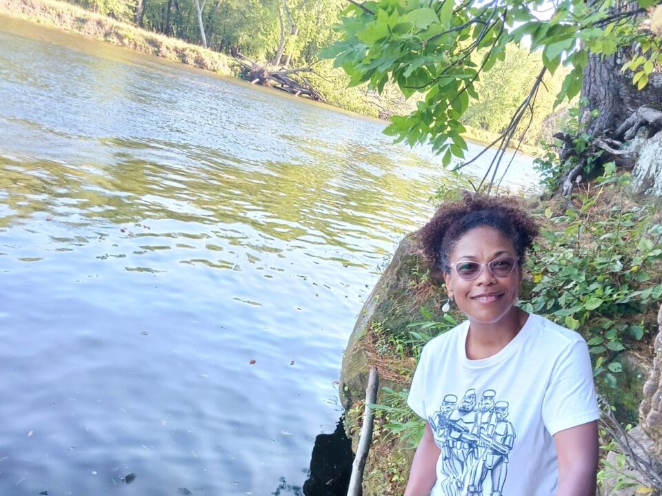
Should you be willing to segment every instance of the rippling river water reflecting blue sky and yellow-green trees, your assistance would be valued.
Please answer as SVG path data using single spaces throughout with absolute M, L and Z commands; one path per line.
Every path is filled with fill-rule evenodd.
M 0 494 L 301 494 L 448 181 L 383 127 L 0 17 Z

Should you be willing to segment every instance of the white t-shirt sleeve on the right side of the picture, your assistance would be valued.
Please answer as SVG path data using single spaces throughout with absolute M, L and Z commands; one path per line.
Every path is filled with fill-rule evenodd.
M 584 340 L 570 344 L 556 361 L 543 398 L 542 415 L 551 435 L 600 417 L 591 359 Z

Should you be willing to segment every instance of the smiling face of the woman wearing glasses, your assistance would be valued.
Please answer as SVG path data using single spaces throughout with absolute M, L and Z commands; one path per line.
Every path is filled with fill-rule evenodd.
M 516 258 L 512 241 L 493 227 L 475 227 L 465 232 L 450 252 L 448 262 L 489 263 L 501 258 Z M 519 265 L 510 275 L 497 277 L 483 267 L 473 280 L 462 279 L 454 268 L 444 274 L 448 296 L 470 320 L 483 324 L 499 322 L 517 300 L 522 273 Z

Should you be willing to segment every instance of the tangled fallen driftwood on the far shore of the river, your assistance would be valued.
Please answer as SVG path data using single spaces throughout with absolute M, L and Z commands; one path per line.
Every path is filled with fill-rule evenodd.
M 241 65 L 243 76 L 251 84 L 274 87 L 294 96 L 305 96 L 315 101 L 326 101 L 324 96 L 305 77 L 301 76 L 306 72 L 315 74 L 311 68 L 272 68 L 269 65 L 260 65 L 239 52 L 234 53 L 234 57 Z

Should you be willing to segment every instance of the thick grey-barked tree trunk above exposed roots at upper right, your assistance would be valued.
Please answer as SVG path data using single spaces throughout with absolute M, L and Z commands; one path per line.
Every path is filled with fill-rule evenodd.
M 588 107 L 582 120 L 589 121 L 591 110 L 600 111 L 587 128 L 593 136 L 611 136 L 640 107 L 662 110 L 662 74 L 650 74 L 648 86 L 639 91 L 632 84 L 632 73 L 621 72 L 623 63 L 625 60 L 617 55 L 602 60 L 591 55 L 588 59 L 581 90 Z

